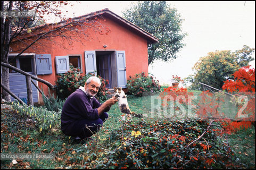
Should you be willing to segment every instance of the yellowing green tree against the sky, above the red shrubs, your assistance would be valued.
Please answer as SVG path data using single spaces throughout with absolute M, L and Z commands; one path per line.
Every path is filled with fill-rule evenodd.
M 224 81 L 234 80 L 235 71 L 253 60 L 251 56 L 253 52 L 254 48 L 244 45 L 242 49 L 233 53 L 230 50 L 216 50 L 208 53 L 208 56 L 201 57 L 193 67 L 196 73 L 191 88 L 201 90 L 201 85 L 198 83 L 202 82 L 221 89 Z

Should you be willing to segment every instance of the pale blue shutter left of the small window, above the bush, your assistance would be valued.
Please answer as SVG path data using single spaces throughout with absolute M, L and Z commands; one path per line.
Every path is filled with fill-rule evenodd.
M 69 56 L 55 56 L 56 73 L 65 73 L 69 71 Z

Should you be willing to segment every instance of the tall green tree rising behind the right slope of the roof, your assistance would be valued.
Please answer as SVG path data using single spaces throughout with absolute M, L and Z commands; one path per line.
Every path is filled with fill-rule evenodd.
M 176 53 L 184 46 L 181 41 L 186 33 L 181 33 L 180 14 L 165 1 L 139 1 L 123 12 L 124 18 L 159 38 L 159 43 L 148 48 L 148 65 L 155 60 L 168 61 L 176 58 Z

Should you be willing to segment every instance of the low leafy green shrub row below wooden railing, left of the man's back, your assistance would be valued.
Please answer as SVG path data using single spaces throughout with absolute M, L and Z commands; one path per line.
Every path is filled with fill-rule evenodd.
M 20 105 L 17 100 L 12 102 L 11 108 L 13 111 L 35 120 L 39 132 L 47 132 L 54 128 L 56 124 L 60 124 L 60 112 L 48 111 L 44 107 Z

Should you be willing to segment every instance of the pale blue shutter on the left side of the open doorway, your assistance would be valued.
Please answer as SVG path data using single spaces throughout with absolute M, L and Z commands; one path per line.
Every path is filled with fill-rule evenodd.
M 97 75 L 95 51 L 85 51 L 85 71 L 86 74 L 95 73 L 95 76 Z

